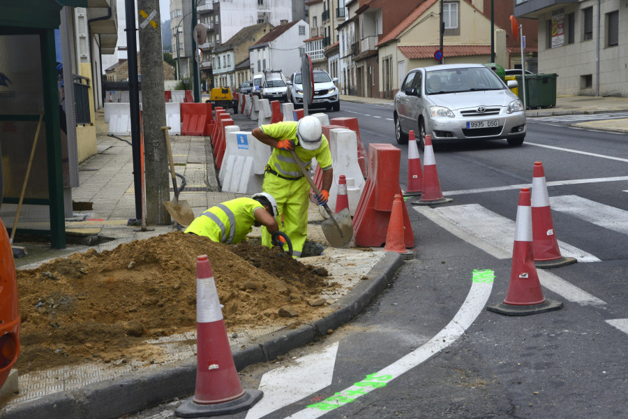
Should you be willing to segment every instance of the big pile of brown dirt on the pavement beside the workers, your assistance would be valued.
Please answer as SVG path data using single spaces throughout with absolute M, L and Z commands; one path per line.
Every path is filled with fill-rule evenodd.
M 335 288 L 324 268 L 279 248 L 215 243 L 172 232 L 98 253 L 74 253 L 17 272 L 20 374 L 76 362 L 151 360 L 144 344 L 196 328 L 196 256 L 207 254 L 228 332 L 295 327 L 327 312 L 315 302 Z M 294 316 L 297 314 L 297 316 Z

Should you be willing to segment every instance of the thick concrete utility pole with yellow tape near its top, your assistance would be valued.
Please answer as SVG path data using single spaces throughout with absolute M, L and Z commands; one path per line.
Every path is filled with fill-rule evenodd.
M 170 224 L 170 214 L 163 202 L 170 200 L 170 174 L 165 138 L 160 130 L 166 122 L 159 0 L 137 0 L 137 11 L 140 22 L 146 221 L 147 224 L 167 225 Z

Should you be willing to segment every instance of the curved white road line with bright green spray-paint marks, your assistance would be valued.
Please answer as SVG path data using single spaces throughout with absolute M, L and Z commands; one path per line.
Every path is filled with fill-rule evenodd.
M 488 301 L 488 297 L 491 295 L 491 290 L 493 289 L 493 282 L 472 282 L 471 289 L 467 298 L 463 302 L 462 306 L 456 313 L 456 316 L 451 319 L 449 324 L 445 326 L 443 330 L 438 332 L 432 339 L 427 341 L 423 346 L 415 349 L 414 351 L 408 353 L 403 358 L 400 358 L 396 362 L 393 362 L 391 365 L 384 367 L 384 369 L 380 369 L 380 371 L 376 372 L 374 375 L 376 376 L 390 376 L 391 378 L 387 381 L 393 381 L 395 378 L 401 376 L 405 372 L 408 372 L 410 369 L 421 365 L 421 363 L 425 362 L 429 358 L 431 358 L 435 353 L 442 351 L 447 346 L 451 345 L 461 337 L 461 335 L 469 328 L 470 325 L 475 321 L 475 318 L 479 316 L 481 311 L 484 309 L 486 302 Z M 369 392 L 375 390 L 373 387 L 362 387 L 357 385 L 352 385 L 349 388 L 345 388 L 342 392 L 336 393 L 336 395 L 346 394 L 347 391 L 359 392 L 362 391 L 364 394 L 355 394 L 353 393 L 350 399 L 357 399 L 362 395 L 368 394 Z M 343 406 L 343 402 L 332 401 L 327 402 L 328 404 L 334 404 L 336 406 Z M 345 402 L 346 403 L 346 402 Z M 323 416 L 327 411 L 322 411 L 313 408 L 306 408 L 297 413 L 294 413 L 291 416 L 288 416 L 290 419 L 315 419 Z

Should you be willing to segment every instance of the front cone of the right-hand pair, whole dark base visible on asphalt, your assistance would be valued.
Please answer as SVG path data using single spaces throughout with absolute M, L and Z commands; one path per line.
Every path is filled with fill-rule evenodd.
M 489 305 L 487 309 L 507 316 L 528 316 L 561 308 L 562 302 L 546 300 L 541 290 L 537 268 L 534 267 L 530 189 L 524 188 L 519 192 L 510 283 L 506 299 L 503 303 Z

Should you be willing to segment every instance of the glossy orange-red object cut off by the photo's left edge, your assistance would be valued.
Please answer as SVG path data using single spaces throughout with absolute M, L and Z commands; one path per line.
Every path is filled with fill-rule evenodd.
M 0 387 L 20 355 L 20 314 L 13 251 L 0 219 Z

